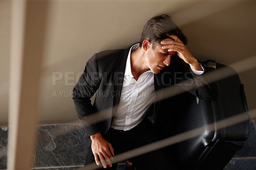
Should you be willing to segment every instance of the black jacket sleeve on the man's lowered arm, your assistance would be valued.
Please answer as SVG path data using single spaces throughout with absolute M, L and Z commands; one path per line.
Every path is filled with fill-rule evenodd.
M 82 120 L 87 137 L 99 132 L 97 124 L 90 124 L 90 122 L 86 121 L 86 116 L 96 112 L 90 98 L 99 88 L 101 82 L 99 75 L 97 54 L 94 54 L 86 63 L 84 72 L 73 89 L 74 105 L 78 117 Z

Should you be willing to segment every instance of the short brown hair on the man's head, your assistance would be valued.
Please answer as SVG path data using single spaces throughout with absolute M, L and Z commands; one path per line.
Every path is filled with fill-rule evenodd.
M 144 40 L 149 40 L 150 43 L 152 43 L 152 48 L 154 49 L 156 43 L 160 43 L 166 38 L 171 38 L 168 35 L 178 36 L 184 45 L 188 43 L 188 38 L 182 33 L 169 15 L 163 14 L 157 17 L 152 17 L 143 27 L 140 47 Z

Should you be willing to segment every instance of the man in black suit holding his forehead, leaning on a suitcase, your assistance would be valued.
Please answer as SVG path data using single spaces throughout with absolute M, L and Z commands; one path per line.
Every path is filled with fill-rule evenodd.
M 86 164 L 95 161 L 104 168 L 114 168 L 114 155 L 156 141 L 155 129 L 147 118 L 150 112 L 157 111 L 154 92 L 173 84 L 166 84 L 168 76 L 176 71 L 173 68 L 181 70 L 182 75 L 189 72 L 191 79 L 204 73 L 186 43 L 186 36 L 172 19 L 160 15 L 148 20 L 140 43 L 125 50 L 100 52 L 89 59 L 73 90 L 77 114 L 86 124 Z M 169 67 L 171 58 L 175 58 L 174 67 Z M 188 76 L 180 81 L 184 79 Z M 202 95 L 204 89 L 192 82 L 189 91 L 207 98 L 208 94 Z M 90 98 L 96 91 L 92 105 Z M 106 109 L 106 119 L 97 123 L 87 119 Z M 174 169 L 172 160 L 164 159 L 159 150 L 132 158 L 136 169 Z

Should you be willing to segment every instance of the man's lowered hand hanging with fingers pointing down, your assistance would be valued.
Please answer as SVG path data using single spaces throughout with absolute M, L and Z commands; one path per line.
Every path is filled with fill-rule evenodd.
M 92 139 L 92 153 L 94 155 L 96 164 L 99 166 L 101 162 L 104 168 L 107 167 L 107 164 L 109 167 L 112 167 L 109 158 L 113 160 L 114 149 L 111 146 L 111 144 L 108 143 L 108 141 L 106 141 L 105 139 L 103 139 L 100 132 L 98 132 L 97 134 L 93 134 L 90 137 Z

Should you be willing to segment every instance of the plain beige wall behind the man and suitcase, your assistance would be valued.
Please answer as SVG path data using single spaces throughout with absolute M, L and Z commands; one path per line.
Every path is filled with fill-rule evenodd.
M 71 91 L 86 61 L 95 52 L 138 42 L 154 15 L 172 15 L 189 38 L 189 50 L 202 61 L 231 65 L 255 55 L 255 7 L 254 1 L 49 1 L 40 122 L 77 120 Z M 10 1 L 0 0 L 0 125 L 8 118 L 10 19 Z M 256 107 L 255 71 L 239 73 L 250 108 Z

